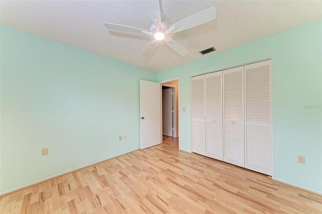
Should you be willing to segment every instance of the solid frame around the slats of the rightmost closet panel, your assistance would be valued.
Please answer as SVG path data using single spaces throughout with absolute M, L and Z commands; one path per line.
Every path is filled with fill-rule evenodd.
M 269 62 L 268 62 L 269 61 Z M 272 128 L 273 128 L 273 122 L 272 122 L 272 101 L 273 101 L 273 99 L 272 99 L 272 70 L 273 70 L 273 68 L 272 68 L 272 64 L 273 64 L 273 62 L 272 62 L 272 59 L 267 59 L 267 60 L 262 60 L 262 61 L 259 61 L 259 62 L 253 62 L 253 63 L 249 63 L 249 64 L 247 64 L 247 65 L 252 65 L 252 64 L 256 64 L 256 63 L 258 63 L 258 64 L 267 64 L 267 63 L 269 63 L 269 66 L 270 66 L 270 71 L 269 71 L 269 105 L 270 105 L 270 124 L 268 124 L 267 126 L 265 126 L 265 127 L 270 127 L 270 146 L 271 146 L 271 155 L 270 155 L 270 158 L 271 158 L 271 163 L 270 163 L 270 170 L 269 171 L 267 171 L 266 169 L 260 169 L 260 168 L 258 168 L 258 167 L 255 167 L 255 166 L 252 166 L 252 165 L 248 165 L 247 164 L 247 150 L 246 150 L 246 147 L 247 147 L 247 134 L 246 134 L 246 126 L 247 126 L 247 117 L 246 117 L 246 108 L 244 107 L 244 144 L 245 144 L 245 149 L 244 149 L 244 151 L 245 151 L 245 153 L 244 153 L 244 155 L 245 155 L 245 168 L 247 168 L 247 169 L 250 169 L 250 170 L 253 170 L 253 171 L 257 171 L 257 172 L 260 172 L 260 173 L 264 173 L 264 174 L 267 174 L 267 175 L 269 175 L 270 177 L 272 177 L 273 176 L 273 140 L 272 140 L 272 138 L 273 138 L 273 131 L 272 131 Z M 245 66 L 247 66 L 247 65 L 245 65 Z M 245 106 L 245 104 L 246 104 L 246 99 L 247 99 L 247 97 L 246 97 L 246 69 L 244 68 L 244 106 Z M 256 123 L 256 122 L 252 122 L 252 124 L 254 124 L 254 125 L 258 125 L 258 126 L 262 126 L 262 123 L 260 124 L 260 123 Z M 263 126 L 262 126 L 263 127 Z

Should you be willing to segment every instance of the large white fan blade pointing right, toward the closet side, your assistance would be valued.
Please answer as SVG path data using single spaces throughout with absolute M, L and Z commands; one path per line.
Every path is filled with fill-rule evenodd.
M 169 29 L 176 27 L 176 30 L 173 32 L 176 33 L 197 27 L 214 19 L 216 19 L 216 8 L 212 7 L 180 20 L 179 22 L 171 25 Z

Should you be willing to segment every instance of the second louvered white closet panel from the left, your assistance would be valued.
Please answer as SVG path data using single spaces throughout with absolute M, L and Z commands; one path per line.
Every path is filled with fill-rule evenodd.
M 222 71 L 206 74 L 206 156 L 223 160 Z

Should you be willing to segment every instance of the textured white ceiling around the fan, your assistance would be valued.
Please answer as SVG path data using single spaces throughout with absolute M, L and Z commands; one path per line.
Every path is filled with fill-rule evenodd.
M 107 30 L 114 23 L 149 30 L 151 20 L 142 0 L 133 1 L 1 1 L 0 21 L 37 36 L 84 49 L 151 71 L 163 71 L 229 48 L 272 35 L 322 17 L 321 1 L 199 1 L 160 2 L 165 24 L 215 6 L 216 20 L 172 38 L 189 50 L 185 57 L 164 42 L 140 58 L 152 39 Z M 198 52 L 214 46 L 205 56 Z

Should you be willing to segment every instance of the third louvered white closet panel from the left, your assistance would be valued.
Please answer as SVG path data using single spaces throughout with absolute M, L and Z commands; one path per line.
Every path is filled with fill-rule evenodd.
M 244 66 L 223 71 L 223 161 L 245 167 Z

